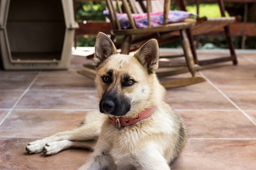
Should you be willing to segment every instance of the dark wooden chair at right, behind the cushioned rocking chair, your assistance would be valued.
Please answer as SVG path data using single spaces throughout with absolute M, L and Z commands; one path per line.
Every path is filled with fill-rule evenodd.
M 186 1 L 185 0 L 175 0 L 180 7 L 181 10 L 186 11 Z M 199 4 L 200 2 L 203 2 L 204 0 L 190 0 L 190 1 L 195 1 L 196 6 L 197 6 L 197 13 L 199 12 Z M 236 17 L 226 17 L 225 16 L 225 7 L 223 0 L 212 0 L 212 2 L 218 2 L 218 5 L 220 7 L 220 13 L 222 17 L 219 18 L 198 18 L 198 22 L 195 26 L 193 26 L 191 29 L 187 29 L 187 34 L 189 37 L 189 42 L 191 44 L 191 50 L 193 53 L 193 57 L 195 60 L 196 64 L 199 65 L 205 65 L 205 64 L 213 64 L 217 62 L 226 62 L 226 61 L 232 61 L 234 65 L 237 64 L 237 59 L 236 59 L 236 53 L 234 50 L 234 44 L 232 42 L 230 30 L 229 30 L 229 24 L 237 22 L 241 19 L 240 16 Z M 218 58 L 213 58 L 213 59 L 208 59 L 208 60 L 199 60 L 197 57 L 197 54 L 195 52 L 195 46 L 193 44 L 193 36 L 197 35 L 202 35 L 205 33 L 209 33 L 217 28 L 223 28 L 224 33 L 227 39 L 227 43 L 229 45 L 229 51 L 230 51 L 230 56 L 223 56 L 223 57 L 218 57 Z

